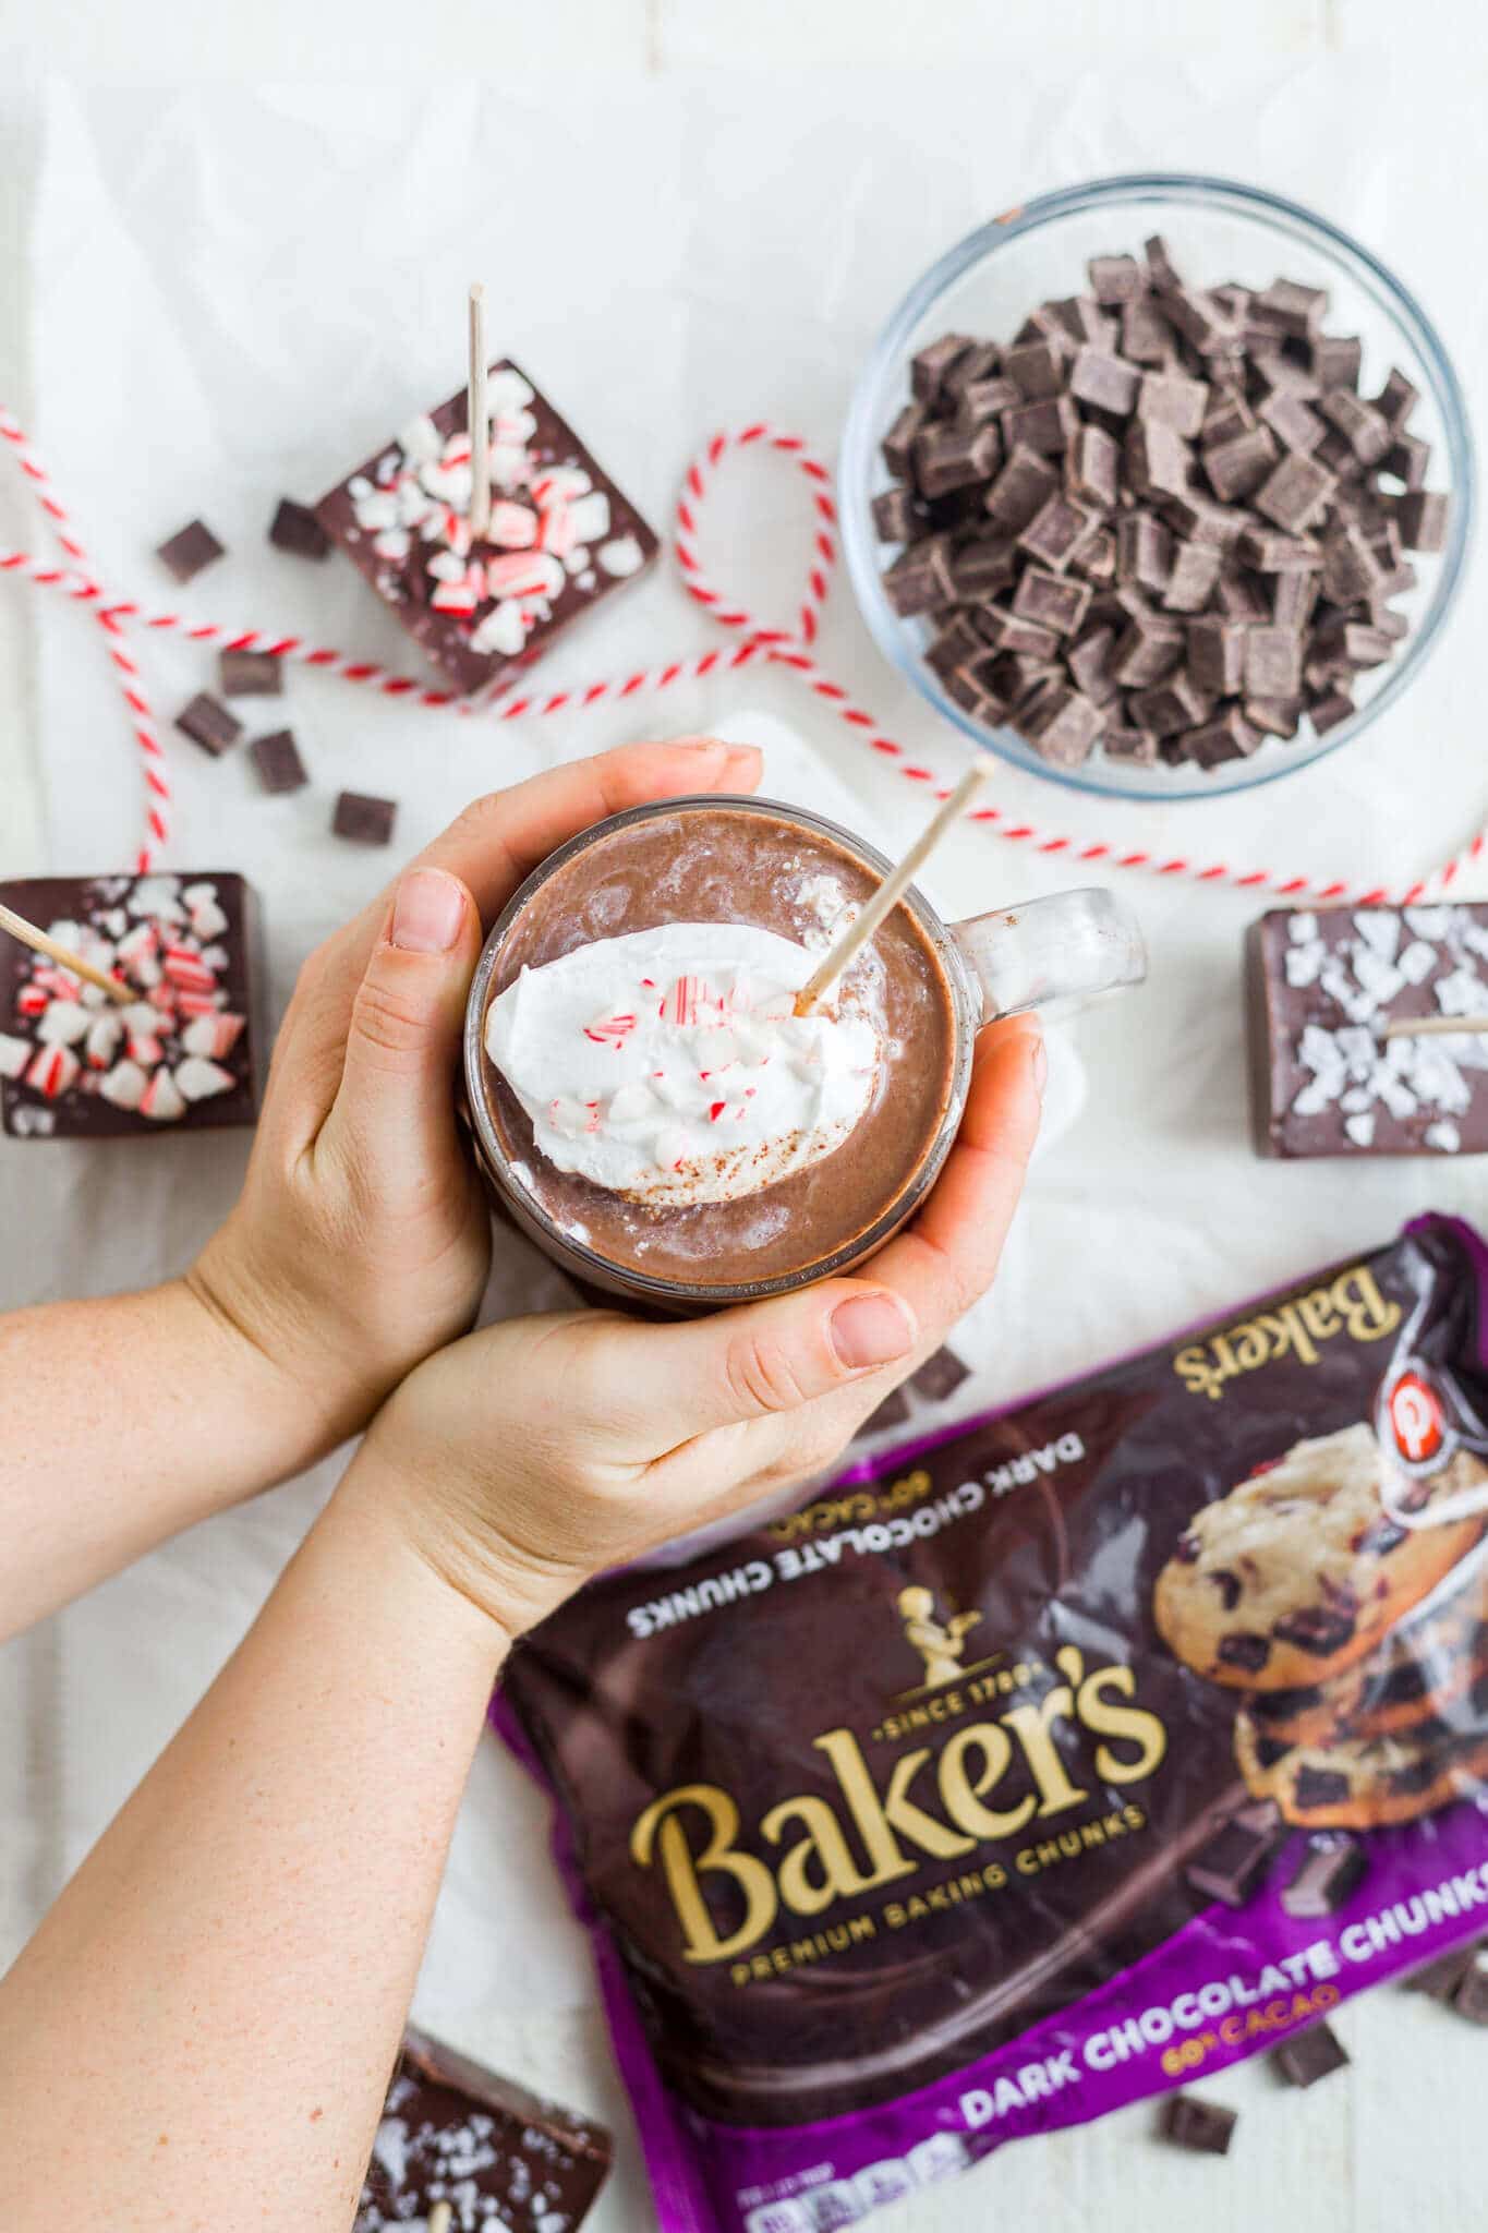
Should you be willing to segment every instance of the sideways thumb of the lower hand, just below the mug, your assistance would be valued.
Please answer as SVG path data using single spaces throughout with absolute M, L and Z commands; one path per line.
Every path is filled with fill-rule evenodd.
M 910 1306 L 872 1280 L 828 1280 L 685 1326 L 636 1326 L 611 1349 L 611 1422 L 636 1456 L 660 1458 L 714 1427 L 799 1411 L 897 1364 L 915 1342 Z

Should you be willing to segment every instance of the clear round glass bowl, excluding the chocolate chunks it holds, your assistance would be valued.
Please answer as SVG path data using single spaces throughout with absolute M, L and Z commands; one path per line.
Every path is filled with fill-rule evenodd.
M 988 728 L 957 706 L 924 661 L 928 623 L 904 621 L 888 603 L 879 576 L 895 547 L 879 543 L 870 516 L 872 498 L 890 487 L 879 444 L 908 402 L 910 357 L 926 342 L 950 330 L 1011 339 L 1035 304 L 1086 288 L 1089 257 L 1140 255 L 1151 232 L 1167 239 L 1178 270 L 1200 288 L 1227 279 L 1265 288 L 1278 277 L 1327 288 L 1327 333 L 1356 333 L 1363 342 L 1361 395 L 1376 395 L 1392 364 L 1421 391 L 1410 431 L 1432 444 L 1428 487 L 1452 498 L 1448 543 L 1439 556 L 1408 554 L 1419 581 L 1399 598 L 1410 619 L 1405 648 L 1356 679 L 1356 710 L 1323 737 L 1303 721 L 1296 739 L 1267 737 L 1249 759 L 1209 770 L 1118 766 L 1100 746 L 1080 768 L 1055 768 L 1011 728 Z M 1040 194 L 946 250 L 899 304 L 863 366 L 843 433 L 839 496 L 848 572 L 875 643 L 973 744 L 1073 790 L 1165 802 L 1223 797 L 1341 750 L 1410 688 L 1461 585 L 1472 534 L 1472 435 L 1437 328 L 1368 248 L 1278 194 L 1227 179 L 1151 172 Z

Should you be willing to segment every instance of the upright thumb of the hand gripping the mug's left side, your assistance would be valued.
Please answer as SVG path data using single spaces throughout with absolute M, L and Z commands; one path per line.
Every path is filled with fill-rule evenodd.
M 475 900 L 444 869 L 393 893 L 352 1000 L 346 1063 L 321 1146 L 384 1181 L 424 1179 L 455 1137 L 455 1061 L 480 960 Z

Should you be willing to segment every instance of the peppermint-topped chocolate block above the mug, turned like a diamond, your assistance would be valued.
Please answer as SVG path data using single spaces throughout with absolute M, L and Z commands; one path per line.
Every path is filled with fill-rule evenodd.
M 656 558 L 656 534 L 524 373 L 491 366 L 491 525 L 471 543 L 466 391 L 377 449 L 315 507 L 462 694 L 511 690 Z

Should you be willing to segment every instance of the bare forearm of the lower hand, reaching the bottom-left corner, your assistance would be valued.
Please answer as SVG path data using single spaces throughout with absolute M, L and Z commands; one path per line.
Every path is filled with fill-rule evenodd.
M 0 1983 L 7 2233 L 346 2233 L 504 1639 L 366 1454 Z

